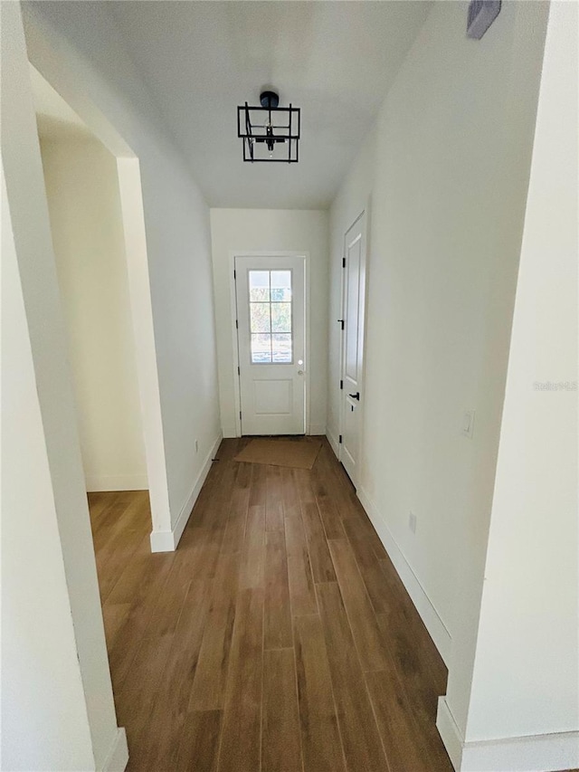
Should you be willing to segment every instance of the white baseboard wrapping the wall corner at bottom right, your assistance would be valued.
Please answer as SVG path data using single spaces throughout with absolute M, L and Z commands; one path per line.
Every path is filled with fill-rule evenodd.
M 445 697 L 436 726 L 457 772 L 555 772 L 579 767 L 579 732 L 464 742 Z

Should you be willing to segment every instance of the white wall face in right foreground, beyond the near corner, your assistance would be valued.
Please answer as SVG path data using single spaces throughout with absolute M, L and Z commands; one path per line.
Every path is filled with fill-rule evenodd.
M 468 740 L 579 730 L 576 31 L 577 6 L 553 3 Z

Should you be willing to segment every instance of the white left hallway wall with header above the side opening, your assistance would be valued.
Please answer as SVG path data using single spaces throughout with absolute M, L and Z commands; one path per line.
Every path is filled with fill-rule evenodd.
M 111 152 L 111 133 L 90 119 L 139 159 L 168 510 L 156 518 L 153 507 L 153 543 L 171 548 L 220 434 L 209 210 L 106 5 L 26 4 L 25 31 L 33 66 Z

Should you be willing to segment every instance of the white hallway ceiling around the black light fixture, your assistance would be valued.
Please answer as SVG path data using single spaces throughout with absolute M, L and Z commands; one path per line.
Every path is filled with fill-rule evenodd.
M 211 206 L 325 208 L 428 2 L 109 2 Z M 265 84 L 301 108 L 299 164 L 242 162 L 236 107 Z

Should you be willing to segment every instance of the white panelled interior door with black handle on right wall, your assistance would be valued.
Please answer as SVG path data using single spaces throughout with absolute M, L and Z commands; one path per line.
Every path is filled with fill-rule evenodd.
M 344 255 L 340 461 L 357 485 L 364 371 L 365 214 L 346 232 Z

